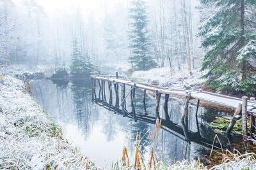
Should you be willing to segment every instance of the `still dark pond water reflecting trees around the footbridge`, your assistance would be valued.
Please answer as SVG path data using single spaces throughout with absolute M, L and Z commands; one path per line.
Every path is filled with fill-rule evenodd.
M 32 81 L 31 84 L 33 96 L 47 109 L 51 117 L 63 125 L 68 141 L 73 141 L 74 145 L 81 146 L 82 152 L 97 166 L 109 168 L 112 162 L 115 163 L 122 159 L 124 146 L 127 147 L 129 157 L 133 162 L 136 135 L 141 132 L 141 136 L 143 136 L 148 129 L 151 131 L 151 136 L 154 132 L 156 99 L 147 95 L 148 115 L 145 116 L 143 92 L 140 90 L 136 90 L 136 112 L 131 113 L 130 96 L 128 96 L 127 112 L 124 114 L 121 107 L 115 108 L 114 89 L 113 105 L 99 100 L 92 101 L 90 80 L 73 82 L 38 80 Z M 130 88 L 127 87 L 126 92 L 129 92 Z M 109 99 L 107 89 L 108 87 L 106 87 L 106 101 Z M 98 89 L 96 91 L 98 97 Z M 165 119 L 164 100 L 161 100 L 159 115 Z M 200 157 L 207 164 L 214 164 L 215 160 L 209 161 L 209 153 L 215 133 L 208 123 L 216 116 L 224 116 L 228 113 L 200 107 L 197 126 L 196 106 L 190 104 L 188 139 L 186 139 L 182 124 L 180 124 L 183 106 L 184 101 L 181 99 L 170 98 L 168 101 L 168 115 L 171 121 L 163 120 L 163 129 L 159 131 L 159 136 L 155 140 L 154 153 L 157 160 L 172 164 L 174 160 L 196 160 Z M 238 150 L 245 149 L 244 144 L 244 149 L 237 145 L 238 141 L 241 141 L 241 136 L 227 136 L 225 133 L 218 133 L 218 137 L 224 148 L 232 150 L 236 145 Z M 149 139 L 148 134 L 141 139 L 140 152 L 145 162 L 148 162 L 150 158 L 152 145 L 152 137 Z M 220 146 L 218 143 L 215 145 L 216 147 Z M 215 149 L 218 150 L 218 148 Z

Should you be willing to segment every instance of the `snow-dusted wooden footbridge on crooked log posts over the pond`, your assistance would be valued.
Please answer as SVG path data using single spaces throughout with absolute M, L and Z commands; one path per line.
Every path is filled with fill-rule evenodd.
M 159 103 L 161 100 L 161 96 L 164 95 L 164 110 L 168 108 L 168 99 L 170 96 L 173 97 L 182 97 L 185 99 L 184 110 L 181 115 L 181 122 L 182 125 L 185 127 L 188 125 L 188 105 L 189 101 L 197 100 L 196 104 L 196 116 L 198 112 L 198 106 L 200 104 L 209 104 L 211 106 L 219 107 L 219 108 L 228 108 L 229 110 L 236 110 L 232 122 L 227 129 L 229 133 L 234 124 L 237 120 L 242 118 L 243 122 L 243 134 L 247 134 L 247 118 L 250 117 L 251 122 L 251 130 L 255 130 L 255 117 L 256 117 L 256 101 L 254 97 L 251 97 L 248 100 L 248 97 L 242 97 L 242 99 L 230 96 L 224 96 L 220 94 L 215 94 L 211 92 L 204 92 L 200 91 L 186 91 L 186 90 L 177 90 L 177 89 L 167 89 L 164 87 L 157 87 L 155 85 L 148 85 L 144 83 L 136 83 L 132 80 L 127 80 L 124 76 L 118 76 L 116 72 L 115 76 L 106 76 L 106 75 L 93 75 L 92 78 L 92 97 L 93 99 L 102 99 L 102 101 L 106 101 L 106 89 L 105 83 L 108 83 L 108 90 L 109 90 L 109 104 L 113 103 L 113 94 L 112 94 L 112 85 L 115 89 L 115 106 L 121 106 L 122 110 L 126 109 L 126 98 L 131 95 L 131 107 L 132 112 L 135 111 L 134 109 L 134 100 L 135 100 L 135 90 L 141 89 L 144 91 L 143 93 L 143 103 L 145 104 L 145 96 L 147 92 L 156 95 L 156 117 L 160 118 L 159 116 Z M 96 94 L 96 86 L 99 85 L 99 95 L 97 98 Z M 121 89 L 121 103 L 119 104 L 119 85 Z M 125 85 L 131 87 L 129 92 L 125 94 Z M 166 118 L 168 118 L 168 114 L 166 114 Z M 196 122 L 198 123 L 198 122 Z M 184 135 L 186 136 L 186 132 Z

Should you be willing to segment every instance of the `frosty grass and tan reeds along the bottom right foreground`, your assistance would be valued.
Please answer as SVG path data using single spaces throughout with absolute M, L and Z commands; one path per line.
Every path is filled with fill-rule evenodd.
M 156 126 L 154 129 L 154 134 L 152 134 L 152 147 L 151 147 L 151 156 L 148 162 L 143 160 L 143 157 L 140 152 L 140 141 L 142 138 L 150 138 L 150 129 L 141 137 L 141 134 L 137 134 L 136 136 L 136 146 L 135 146 L 135 161 L 132 162 L 129 159 L 127 148 L 124 147 L 122 160 L 113 164 L 111 169 L 119 170 L 119 169 L 209 169 L 204 164 L 200 162 L 200 159 L 194 160 L 193 162 L 188 162 L 187 160 L 183 160 L 182 162 L 173 162 L 172 165 L 166 164 L 166 162 L 158 162 L 156 155 L 154 154 L 154 145 L 157 146 L 159 131 L 161 128 L 161 120 L 156 120 Z M 218 138 L 218 136 L 216 136 Z M 215 138 L 214 138 L 215 139 Z M 209 155 L 211 159 L 212 151 Z M 224 152 L 222 150 L 221 157 L 222 163 L 211 167 L 211 169 L 256 169 L 256 154 L 255 153 L 244 153 L 241 154 L 237 150 L 234 152 L 230 152 L 226 150 Z

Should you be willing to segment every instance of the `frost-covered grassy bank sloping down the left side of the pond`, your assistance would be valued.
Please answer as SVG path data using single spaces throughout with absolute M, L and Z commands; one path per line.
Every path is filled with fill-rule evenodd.
M 21 81 L 0 81 L 0 169 L 95 169 Z

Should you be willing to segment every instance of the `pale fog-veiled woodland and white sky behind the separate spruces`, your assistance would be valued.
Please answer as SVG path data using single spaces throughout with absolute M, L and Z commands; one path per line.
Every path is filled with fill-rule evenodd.
M 74 39 L 81 53 L 98 67 L 103 62 L 132 66 L 128 62 L 131 1 L 1 0 L 0 3 L 3 23 L 0 60 L 6 66 L 33 66 L 29 67 L 31 71 L 38 67 L 47 67 L 47 71 L 70 67 Z M 185 69 L 188 49 L 193 68 L 200 65 L 202 50 L 196 37 L 198 6 L 196 0 L 146 1 L 150 55 L 157 67 Z

